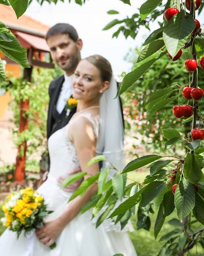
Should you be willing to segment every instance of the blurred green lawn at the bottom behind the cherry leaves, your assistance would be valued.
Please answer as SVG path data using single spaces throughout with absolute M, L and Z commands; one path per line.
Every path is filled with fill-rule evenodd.
M 147 175 L 147 172 L 135 172 L 128 175 L 130 175 L 132 178 L 138 181 L 142 181 L 144 180 L 144 177 Z M 1 205 L 0 205 L 0 208 L 1 208 Z M 161 249 L 161 246 L 162 246 L 162 243 L 159 242 L 159 238 L 164 234 L 166 234 L 167 232 L 170 232 L 171 230 L 177 228 L 168 223 L 170 219 L 177 218 L 176 210 L 174 210 L 173 214 L 166 218 L 164 225 L 159 233 L 159 236 L 157 240 L 155 240 L 153 230 L 154 230 L 154 223 L 156 221 L 156 213 L 158 210 L 157 209 L 154 209 L 154 210 L 155 210 L 155 214 L 150 215 L 150 219 L 151 219 L 150 232 L 143 229 L 136 230 L 137 216 L 133 216 L 132 218 L 132 223 L 135 228 L 135 231 L 130 233 L 130 238 L 133 241 L 133 244 L 136 248 L 138 256 L 156 256 L 159 253 L 159 250 Z M 3 212 L 0 209 L 0 218 L 2 217 L 3 217 Z M 201 225 L 197 224 L 197 227 L 200 228 Z M 4 227 L 0 225 L 0 234 L 3 233 L 3 230 L 4 230 Z M 189 254 L 186 254 L 186 256 L 187 255 L 201 256 L 201 255 L 204 255 L 203 251 L 204 250 L 201 248 L 201 246 L 198 245 L 197 248 L 194 247 L 192 250 L 190 250 Z

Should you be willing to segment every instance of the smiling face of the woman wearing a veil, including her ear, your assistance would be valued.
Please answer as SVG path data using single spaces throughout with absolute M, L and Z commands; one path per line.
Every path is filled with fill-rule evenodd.
M 97 67 L 82 60 L 74 72 L 73 97 L 82 100 L 95 99 L 108 88 L 108 84 L 108 81 L 102 81 Z

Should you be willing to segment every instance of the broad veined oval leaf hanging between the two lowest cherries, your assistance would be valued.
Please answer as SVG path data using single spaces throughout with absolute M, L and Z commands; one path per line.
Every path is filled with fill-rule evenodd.
M 178 218 L 181 221 L 193 210 L 195 206 L 195 192 L 188 180 L 181 180 L 176 187 L 174 204 L 177 209 Z

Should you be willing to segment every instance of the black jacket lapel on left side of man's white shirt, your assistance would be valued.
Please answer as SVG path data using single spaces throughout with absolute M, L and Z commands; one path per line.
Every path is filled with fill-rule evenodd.
M 64 75 L 59 76 L 57 79 L 51 82 L 49 86 L 49 96 L 50 102 L 48 105 L 48 120 L 47 120 L 47 137 L 51 136 L 51 130 L 54 125 L 54 119 L 52 117 L 52 113 L 54 111 L 54 107 L 57 103 L 57 99 L 59 98 L 59 93 L 62 88 L 62 84 L 65 81 Z

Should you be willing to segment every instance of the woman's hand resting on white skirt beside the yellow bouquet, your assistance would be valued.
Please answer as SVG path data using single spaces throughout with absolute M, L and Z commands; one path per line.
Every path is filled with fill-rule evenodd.
M 49 221 L 45 225 L 35 231 L 38 240 L 46 245 L 51 246 L 55 239 L 62 232 L 63 227 L 58 220 Z

